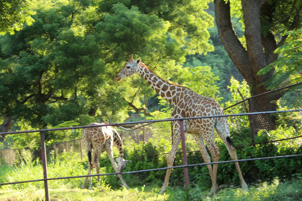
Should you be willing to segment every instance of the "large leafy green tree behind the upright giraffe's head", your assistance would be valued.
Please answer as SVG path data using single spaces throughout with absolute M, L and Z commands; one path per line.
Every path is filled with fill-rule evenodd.
M 35 1 L 27 8 L 35 22 L 0 36 L 0 115 L 43 128 L 117 122 L 129 108 L 141 112 L 155 92 L 138 77 L 114 81 L 125 58 L 133 53 L 182 83 L 185 55 L 213 50 L 207 3 Z

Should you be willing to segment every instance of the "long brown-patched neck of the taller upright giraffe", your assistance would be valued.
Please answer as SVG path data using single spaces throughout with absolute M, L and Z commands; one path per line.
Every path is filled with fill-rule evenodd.
M 138 73 L 147 81 L 147 83 L 152 87 L 156 93 L 159 94 L 163 99 L 167 100 L 170 104 L 174 106 L 175 94 L 177 91 L 182 90 L 182 86 L 177 86 L 175 84 L 169 83 L 162 78 L 154 74 L 149 67 L 145 64 L 140 63 Z

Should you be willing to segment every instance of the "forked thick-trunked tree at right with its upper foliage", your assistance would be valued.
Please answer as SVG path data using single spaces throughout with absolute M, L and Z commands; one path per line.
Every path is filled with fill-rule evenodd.
M 265 1 L 265 0 L 214 0 L 218 34 L 239 72 L 255 96 L 267 91 L 263 82 L 274 74 L 274 68 L 268 73 L 257 75 L 278 58 L 275 49 L 286 43 L 286 31 L 301 27 L 300 13 L 302 1 Z M 237 14 L 244 25 L 245 33 L 239 39 L 234 32 L 231 16 Z M 260 96 L 251 102 L 258 111 L 276 110 L 274 101 L 284 92 Z M 266 116 L 267 123 L 275 122 L 274 116 Z

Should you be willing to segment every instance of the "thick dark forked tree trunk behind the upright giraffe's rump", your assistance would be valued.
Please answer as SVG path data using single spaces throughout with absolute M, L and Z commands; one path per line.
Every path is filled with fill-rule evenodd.
M 259 86 L 259 84 L 268 80 L 274 71 L 261 76 L 258 76 L 257 72 L 277 59 L 277 55 L 274 54 L 277 44 L 273 34 L 270 33 L 265 37 L 261 34 L 260 10 L 269 7 L 264 3 L 265 1 L 261 0 L 242 0 L 247 46 L 245 49 L 233 29 L 230 2 L 214 0 L 219 37 L 226 52 L 251 87 L 251 96 L 268 91 L 264 85 Z M 252 99 L 250 108 L 255 112 L 276 110 L 275 101 L 282 95 L 283 93 L 274 93 Z M 254 118 L 254 128 L 256 130 L 275 129 L 275 120 L 273 115 L 257 115 Z

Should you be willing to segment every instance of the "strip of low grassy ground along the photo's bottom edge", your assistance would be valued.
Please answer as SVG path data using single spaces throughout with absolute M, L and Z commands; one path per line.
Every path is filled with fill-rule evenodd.
M 159 194 L 159 188 L 154 186 L 137 187 L 126 190 L 111 190 L 109 185 L 101 184 L 93 190 L 69 188 L 62 186 L 60 189 L 50 189 L 50 200 L 302 200 L 302 182 L 284 181 L 275 179 L 272 182 L 264 182 L 249 187 L 248 192 L 240 188 L 224 188 L 213 196 L 207 196 L 208 189 L 202 190 L 192 185 L 190 190 L 168 188 L 163 195 Z M 44 190 L 26 188 L 23 190 L 0 189 L 0 200 L 43 200 Z

